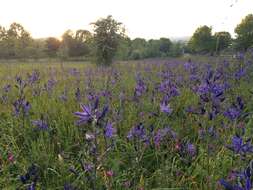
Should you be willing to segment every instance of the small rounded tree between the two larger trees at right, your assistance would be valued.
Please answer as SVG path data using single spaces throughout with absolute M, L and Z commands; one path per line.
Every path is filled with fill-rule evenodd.
M 229 32 L 216 32 L 214 39 L 216 42 L 215 49 L 218 52 L 228 48 L 232 44 L 232 38 Z

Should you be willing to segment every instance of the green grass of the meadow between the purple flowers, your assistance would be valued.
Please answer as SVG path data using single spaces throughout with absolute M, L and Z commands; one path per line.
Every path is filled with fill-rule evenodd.
M 168 62 L 175 61 L 180 63 L 185 60 Z M 198 58 L 193 58 L 193 61 L 198 61 Z M 210 63 L 215 64 L 215 61 L 211 60 Z M 201 64 L 199 67 L 202 67 Z M 70 70 L 73 68 L 79 74 L 71 75 Z M 31 74 L 34 70 L 40 73 L 40 79 L 34 85 L 28 84 L 24 90 L 25 99 L 30 102 L 31 110 L 27 117 L 16 117 L 13 115 L 13 102 L 20 93 L 15 87 L 15 76 L 22 76 L 22 79 L 26 80 L 27 74 Z M 26 189 L 27 185 L 22 184 L 19 177 L 27 172 L 31 164 L 35 164 L 39 169 L 37 189 L 63 189 L 67 183 L 78 189 L 90 189 L 91 181 L 86 177 L 89 176 L 87 172 L 80 172 L 76 176 L 69 171 L 71 167 L 81 171 L 79 161 L 92 159 L 87 156 L 89 145 L 85 141 L 85 133 L 92 129 L 92 126 L 76 126 L 77 118 L 73 113 L 80 110 L 80 103 L 88 104 L 89 92 L 100 93 L 103 90 L 109 90 L 111 93 L 110 98 L 101 98 L 101 104 L 105 102 L 109 104 L 110 111 L 106 120 L 117 128 L 117 137 L 113 142 L 113 150 L 106 154 L 97 170 L 97 189 L 217 188 L 217 181 L 226 177 L 231 169 L 245 165 L 224 145 L 230 143 L 234 135 L 233 126 L 239 122 L 247 126 L 247 135 L 250 136 L 253 118 L 250 115 L 241 121 L 231 123 L 222 114 L 214 121 L 209 121 L 206 115 L 196 116 L 186 113 L 185 109 L 188 106 L 198 105 L 199 97 L 187 84 L 188 74 L 181 65 L 170 69 L 175 76 L 182 76 L 185 83 L 179 84 L 180 96 L 170 100 L 173 113 L 166 116 L 159 111 L 162 95 L 156 93 L 155 97 L 152 96 L 152 90 L 161 82 L 161 77 L 157 73 L 162 70 L 167 68 L 164 64 L 159 64 L 159 60 L 152 63 L 121 62 L 109 68 L 97 68 L 95 65 L 82 62 L 1 63 L 0 87 L 10 84 L 11 90 L 7 93 L 6 102 L 0 103 L 0 189 Z M 112 83 L 116 77 L 114 71 L 118 77 L 115 84 Z M 148 92 L 138 101 L 134 101 L 137 73 L 145 78 Z M 51 92 L 43 90 L 49 79 L 56 81 Z M 172 80 L 178 83 L 176 77 Z M 252 112 L 252 94 L 249 92 L 249 89 L 252 89 L 252 80 L 242 79 L 237 83 L 234 79 L 229 80 L 233 87 L 226 92 L 227 99 L 224 105 L 230 105 L 236 96 L 240 95 L 245 100 L 245 110 Z M 92 87 L 89 87 L 90 84 Z M 75 98 L 77 87 L 81 90 L 80 102 Z M 64 91 L 66 101 L 59 98 Z M 35 92 L 39 92 L 39 95 L 34 95 Z M 119 98 L 121 92 L 124 92 L 123 101 Z M 0 91 L 0 95 L 4 95 L 3 90 Z M 152 116 L 152 113 L 157 115 Z M 47 131 L 35 130 L 31 123 L 42 116 L 48 122 Z M 224 129 L 221 121 L 229 128 Z M 134 143 L 129 142 L 126 136 L 128 131 L 140 122 L 147 128 L 153 125 L 155 131 L 170 126 L 177 132 L 178 139 L 195 144 L 198 154 L 194 158 L 187 158 L 190 163 L 185 162 L 175 150 L 176 142 L 172 139 L 167 139 L 159 149 L 153 145 L 149 148 L 141 143 L 136 149 Z M 200 123 L 204 128 L 215 126 L 219 138 L 217 140 L 206 138 L 205 141 L 201 141 L 198 135 Z M 106 151 L 105 140 L 100 138 L 98 143 L 102 154 Z M 214 147 L 210 153 L 207 151 L 209 144 Z M 10 160 L 10 155 L 13 155 L 13 160 Z M 114 172 L 113 177 L 105 175 L 108 170 Z M 123 185 L 126 181 L 131 182 L 129 188 Z

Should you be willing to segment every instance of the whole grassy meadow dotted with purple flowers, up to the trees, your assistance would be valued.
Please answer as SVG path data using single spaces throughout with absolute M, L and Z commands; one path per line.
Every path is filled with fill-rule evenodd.
M 0 64 L 0 189 L 253 188 L 253 53 Z

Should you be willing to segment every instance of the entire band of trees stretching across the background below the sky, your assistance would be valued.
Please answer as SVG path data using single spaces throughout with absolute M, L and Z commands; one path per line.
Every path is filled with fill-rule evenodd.
M 253 47 L 253 15 L 247 15 L 235 28 L 236 38 L 229 32 L 212 33 L 212 28 L 201 26 L 188 42 L 173 42 L 169 38 L 131 40 L 122 23 L 112 16 L 92 23 L 93 31 L 67 30 L 61 39 L 34 39 L 18 23 L 8 28 L 0 26 L 0 58 L 95 58 L 107 64 L 113 59 L 129 60 L 153 57 L 177 57 L 183 53 L 219 54 L 226 49 L 246 51 Z

